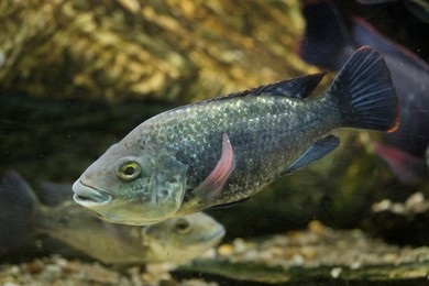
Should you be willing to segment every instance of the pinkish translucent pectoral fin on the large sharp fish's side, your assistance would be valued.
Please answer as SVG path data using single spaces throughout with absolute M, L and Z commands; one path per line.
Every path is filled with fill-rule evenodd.
M 223 134 L 222 155 L 216 164 L 216 167 L 206 177 L 206 179 L 196 187 L 193 193 L 199 196 L 202 200 L 210 200 L 219 196 L 220 191 L 228 177 L 235 167 L 234 153 L 230 139 Z

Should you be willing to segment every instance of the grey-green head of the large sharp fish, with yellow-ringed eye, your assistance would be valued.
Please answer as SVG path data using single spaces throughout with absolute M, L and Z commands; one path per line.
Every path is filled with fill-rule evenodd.
M 75 201 L 113 223 L 144 226 L 172 217 L 185 196 L 186 165 L 166 152 L 139 154 L 120 143 L 75 182 Z

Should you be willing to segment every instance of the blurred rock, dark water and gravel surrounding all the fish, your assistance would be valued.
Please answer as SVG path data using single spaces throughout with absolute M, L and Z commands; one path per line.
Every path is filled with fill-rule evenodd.
M 162 111 L 327 70 L 299 56 L 302 7 L 323 2 L 329 1 L 1 2 L 0 174 L 18 172 L 43 201 L 41 185 L 75 182 L 111 144 Z M 428 4 L 380 2 L 332 4 L 344 29 L 361 16 L 416 54 L 410 57 L 427 62 Z M 320 24 L 329 25 L 330 19 Z M 315 95 L 331 82 L 336 72 L 328 72 Z M 419 95 L 426 102 L 428 92 Z M 424 112 L 414 117 L 416 124 L 428 109 L 422 106 Z M 346 130 L 336 135 L 340 147 L 316 164 L 243 204 L 207 211 L 227 230 L 217 255 L 174 271 L 118 270 L 85 253 L 69 254 L 68 245 L 53 253 L 37 238 L 0 251 L 0 284 L 425 285 L 427 165 L 417 179 L 404 183 L 372 147 L 384 142 L 380 133 Z M 0 221 L 13 221 L 8 211 L 0 216 Z M 0 229 L 0 235 L 8 235 L 8 228 Z M 360 252 L 367 256 L 358 257 Z M 57 272 L 45 274 L 50 267 Z

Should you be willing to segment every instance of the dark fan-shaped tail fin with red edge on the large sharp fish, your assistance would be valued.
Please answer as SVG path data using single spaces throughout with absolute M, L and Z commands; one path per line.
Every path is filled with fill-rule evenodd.
M 393 132 L 399 106 L 391 73 L 373 48 L 359 48 L 344 64 L 328 91 L 340 106 L 341 127 Z

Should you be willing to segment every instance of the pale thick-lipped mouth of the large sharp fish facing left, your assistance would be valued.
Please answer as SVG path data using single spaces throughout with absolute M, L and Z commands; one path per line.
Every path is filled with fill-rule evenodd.
M 75 195 L 73 199 L 82 207 L 91 208 L 100 205 L 108 205 L 113 197 L 106 191 L 95 189 L 85 185 L 80 179 L 73 184 L 73 191 Z

